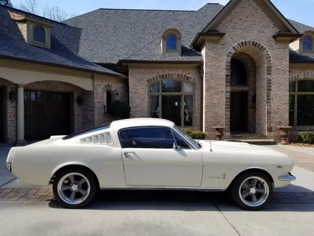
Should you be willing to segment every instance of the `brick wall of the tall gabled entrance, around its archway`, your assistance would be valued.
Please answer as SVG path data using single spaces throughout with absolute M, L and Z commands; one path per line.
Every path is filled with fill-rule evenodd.
M 275 135 L 276 126 L 288 124 L 288 44 L 275 42 L 272 35 L 279 29 L 254 0 L 240 1 L 216 29 L 226 35 L 218 43 L 206 42 L 202 50 L 205 132 L 212 136 L 213 125 L 224 125 L 225 135 L 230 134 L 228 61 L 235 52 L 241 52 L 248 54 L 257 66 L 256 130 Z

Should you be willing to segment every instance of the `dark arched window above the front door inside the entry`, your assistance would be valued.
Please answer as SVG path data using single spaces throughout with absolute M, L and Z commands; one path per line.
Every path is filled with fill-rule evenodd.
M 247 85 L 247 73 L 245 65 L 238 59 L 231 59 L 231 85 Z

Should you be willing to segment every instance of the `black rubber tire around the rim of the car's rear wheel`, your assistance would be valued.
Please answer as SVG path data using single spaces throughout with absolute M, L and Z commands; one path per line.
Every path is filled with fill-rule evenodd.
M 81 203 L 78 203 L 78 204 L 66 203 L 62 200 L 62 198 L 60 198 L 60 196 L 58 194 L 58 183 L 59 183 L 59 181 L 61 180 L 62 177 L 64 177 L 65 175 L 67 175 L 69 173 L 79 173 L 79 174 L 85 176 L 90 183 L 89 184 L 90 185 L 89 186 L 90 192 L 89 192 L 87 198 Z M 56 202 L 58 204 L 60 204 L 62 207 L 72 208 L 72 209 L 87 206 L 94 199 L 98 189 L 99 189 L 98 180 L 93 175 L 93 173 L 91 171 L 89 171 L 88 169 L 81 168 L 81 167 L 70 167 L 70 168 L 59 171 L 57 173 L 57 175 L 53 181 L 53 185 L 52 185 L 52 192 L 53 192 L 53 195 L 54 195 Z

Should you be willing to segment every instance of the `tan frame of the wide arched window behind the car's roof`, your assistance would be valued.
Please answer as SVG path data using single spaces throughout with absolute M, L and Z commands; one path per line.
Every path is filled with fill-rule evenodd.
M 180 81 L 181 82 L 181 92 L 162 92 L 162 82 L 163 81 Z M 159 83 L 159 90 L 158 92 L 151 92 L 150 91 L 150 86 L 153 84 Z M 184 92 L 183 85 L 184 83 L 192 84 L 194 85 L 194 90 L 193 92 Z M 160 108 L 161 106 L 161 100 L 162 100 L 162 95 L 181 95 L 181 126 L 178 125 L 179 128 L 181 129 L 190 129 L 195 127 L 195 86 L 196 84 L 193 82 L 189 81 L 183 81 L 181 79 L 164 79 L 160 81 L 154 81 L 152 83 L 148 84 L 148 114 L 149 117 L 151 117 L 151 112 L 158 112 L 158 118 L 162 118 L 162 111 L 159 109 L 159 111 L 151 111 L 151 96 L 158 96 L 158 107 Z M 185 95 L 192 95 L 193 96 L 193 110 L 192 111 L 187 111 L 187 112 L 192 112 L 192 125 L 191 126 L 184 126 L 184 96 Z

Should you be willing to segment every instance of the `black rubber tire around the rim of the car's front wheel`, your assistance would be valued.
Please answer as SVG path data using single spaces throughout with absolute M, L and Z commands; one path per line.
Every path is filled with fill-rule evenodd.
M 269 194 L 268 194 L 267 199 L 262 203 L 262 205 L 252 207 L 252 206 L 248 206 L 247 204 L 245 204 L 241 200 L 241 197 L 239 194 L 239 189 L 241 187 L 242 182 L 249 177 L 260 177 L 264 180 L 264 183 L 266 183 L 268 185 Z M 232 185 L 232 188 L 231 188 L 231 194 L 232 194 L 233 200 L 235 201 L 235 204 L 244 210 L 261 210 L 261 209 L 263 209 L 264 207 L 266 207 L 271 202 L 271 199 L 273 197 L 273 193 L 274 193 L 274 187 L 273 187 L 273 184 L 272 184 L 270 178 L 267 175 L 265 175 L 264 173 L 258 172 L 258 171 L 247 172 L 247 173 L 244 173 L 243 175 L 237 177 L 235 179 L 234 184 Z

